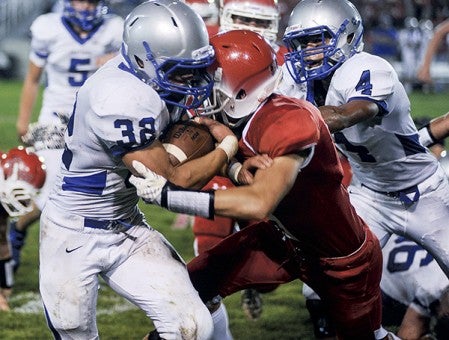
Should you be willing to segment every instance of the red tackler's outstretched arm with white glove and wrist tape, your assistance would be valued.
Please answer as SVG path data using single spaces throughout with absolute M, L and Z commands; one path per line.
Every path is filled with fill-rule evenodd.
M 307 155 L 308 152 L 304 151 L 304 155 L 276 157 L 269 168 L 256 171 L 251 185 L 215 192 L 196 192 L 175 187 L 139 162 L 133 163 L 138 177 L 131 176 L 130 182 L 146 202 L 174 212 L 206 218 L 221 215 L 263 219 L 269 216 L 291 189 Z

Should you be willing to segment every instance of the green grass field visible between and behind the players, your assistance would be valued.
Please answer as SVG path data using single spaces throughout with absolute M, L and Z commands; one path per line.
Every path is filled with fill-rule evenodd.
M 0 150 L 17 145 L 15 120 L 21 83 L 0 81 Z M 448 108 L 448 93 L 411 96 L 414 116 L 434 117 Z M 39 107 L 39 105 L 37 106 Z M 37 111 L 37 110 L 36 110 Z M 35 113 L 35 118 L 37 113 Z M 160 230 L 188 261 L 193 256 L 190 230 L 172 230 L 174 215 L 156 207 L 142 205 L 148 221 Z M 10 300 L 11 312 L 0 314 L 0 339 L 51 339 L 38 293 L 38 225 L 32 226 L 22 255 L 22 266 Z M 240 308 L 240 295 L 225 299 L 231 331 L 236 340 L 313 339 L 308 314 L 301 296 L 301 283 L 292 282 L 264 294 L 264 312 L 257 321 L 246 319 Z M 141 339 L 152 329 L 146 316 L 102 285 L 98 300 L 98 328 L 102 339 Z

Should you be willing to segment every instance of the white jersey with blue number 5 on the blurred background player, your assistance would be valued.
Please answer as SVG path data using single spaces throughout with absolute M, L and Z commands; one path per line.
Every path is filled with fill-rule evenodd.
M 39 16 L 30 29 L 30 61 L 45 67 L 47 77 L 39 122 L 54 123 L 55 113 L 71 114 L 76 91 L 98 69 L 97 58 L 120 49 L 123 19 L 106 15 L 85 38 L 76 35 L 60 13 Z

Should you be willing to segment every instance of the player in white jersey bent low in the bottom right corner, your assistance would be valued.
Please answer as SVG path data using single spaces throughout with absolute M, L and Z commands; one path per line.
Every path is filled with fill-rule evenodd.
M 449 280 L 422 247 L 402 236 L 391 237 L 382 249 L 381 288 L 384 294 L 384 325 L 399 326 L 401 339 L 421 339 L 432 329 L 438 339 L 448 336 L 442 309 L 448 301 Z M 444 332 L 444 327 L 446 333 Z

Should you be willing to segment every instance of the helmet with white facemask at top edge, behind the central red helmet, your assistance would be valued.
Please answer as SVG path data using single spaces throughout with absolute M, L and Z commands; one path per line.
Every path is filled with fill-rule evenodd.
M 277 0 L 220 0 L 220 32 L 246 29 L 274 44 L 279 20 Z

